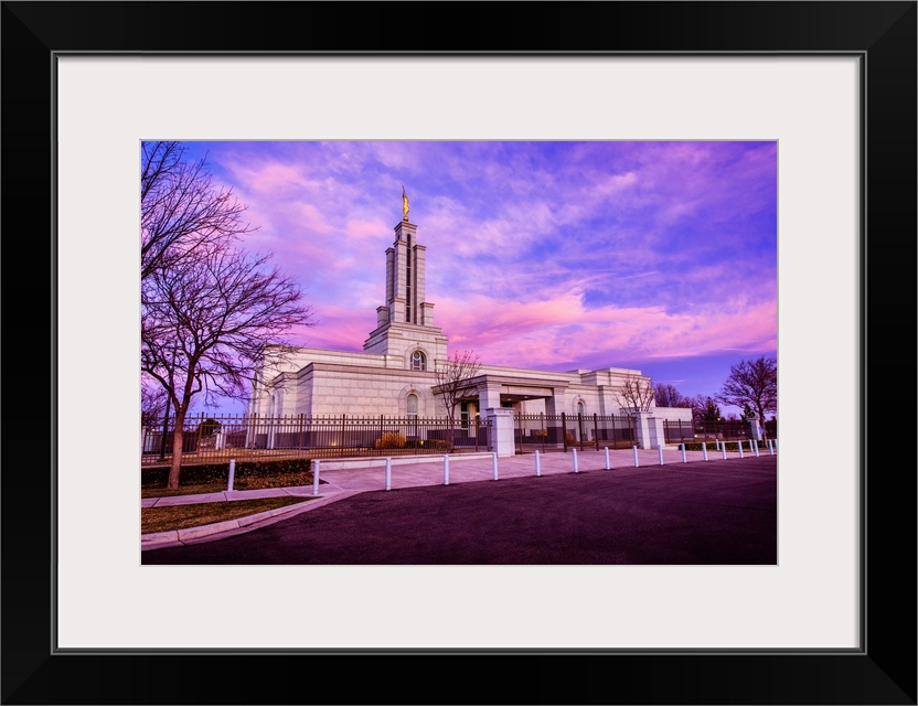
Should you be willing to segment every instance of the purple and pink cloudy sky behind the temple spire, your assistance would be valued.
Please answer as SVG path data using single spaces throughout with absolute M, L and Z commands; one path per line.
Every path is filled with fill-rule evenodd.
M 776 142 L 186 145 L 260 226 L 245 246 L 299 280 L 300 345 L 362 351 L 404 184 L 450 351 L 634 367 L 688 396 L 777 356 Z

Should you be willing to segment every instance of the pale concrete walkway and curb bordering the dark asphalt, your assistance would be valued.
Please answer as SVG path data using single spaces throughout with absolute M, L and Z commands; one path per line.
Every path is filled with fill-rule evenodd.
M 761 456 L 770 456 L 768 450 L 759 450 Z M 749 451 L 748 447 L 743 452 L 744 458 L 754 458 L 756 454 Z M 736 451 L 727 452 L 727 460 L 739 459 Z M 141 548 L 154 549 L 161 547 L 183 546 L 222 539 L 228 536 L 243 534 L 274 524 L 300 513 L 310 512 L 331 502 L 352 498 L 367 491 L 399 490 L 408 488 L 421 488 L 430 485 L 456 485 L 478 481 L 493 481 L 515 478 L 535 478 L 536 475 L 563 475 L 597 470 L 633 469 L 665 466 L 680 466 L 682 463 L 706 462 L 716 464 L 724 462 L 722 451 L 709 449 L 707 457 L 702 451 L 668 450 L 661 452 L 657 449 L 639 449 L 636 452 L 630 450 L 596 451 L 584 449 L 568 451 L 566 453 L 552 451 L 546 453 L 525 453 L 506 458 L 495 459 L 493 454 L 476 454 L 473 458 L 463 456 L 429 457 L 415 463 L 405 463 L 405 459 L 393 460 L 391 472 L 386 473 L 384 464 L 363 466 L 360 468 L 331 468 L 323 469 L 320 464 L 319 492 L 318 496 L 313 485 L 299 488 L 275 488 L 249 491 L 232 491 L 207 493 L 200 495 L 177 495 L 171 498 L 148 498 L 141 500 L 141 507 L 162 507 L 167 505 L 182 505 L 205 502 L 222 502 L 235 500 L 248 500 L 254 498 L 277 498 L 284 495 L 314 498 L 303 503 L 296 503 L 278 507 L 268 512 L 258 513 L 238 520 L 179 530 L 172 532 L 160 532 L 141 535 Z M 367 460 L 367 462 L 380 463 L 380 459 Z M 399 462 L 401 461 L 401 462 Z M 331 462 L 327 462 L 332 466 Z M 388 486 L 387 486 L 388 481 Z

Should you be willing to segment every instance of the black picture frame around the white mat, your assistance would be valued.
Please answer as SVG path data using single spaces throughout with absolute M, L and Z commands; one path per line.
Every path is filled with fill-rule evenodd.
M 916 17 L 914 1 L 3 2 L 2 703 L 916 704 Z M 860 56 L 861 649 L 58 653 L 55 56 L 138 52 Z

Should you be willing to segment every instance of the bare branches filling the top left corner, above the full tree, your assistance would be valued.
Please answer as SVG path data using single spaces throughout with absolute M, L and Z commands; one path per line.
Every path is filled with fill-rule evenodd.
M 199 248 L 252 233 L 232 189 L 213 184 L 205 160 L 186 161 L 181 142 L 143 142 L 140 161 L 140 278 Z

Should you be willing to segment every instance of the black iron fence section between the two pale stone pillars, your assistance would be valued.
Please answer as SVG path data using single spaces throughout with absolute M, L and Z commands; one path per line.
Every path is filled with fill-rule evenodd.
M 636 421 L 628 415 L 516 415 L 514 427 L 517 453 L 586 447 L 630 449 L 638 442 Z

